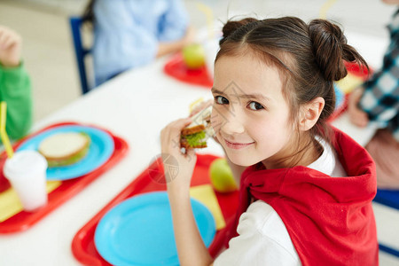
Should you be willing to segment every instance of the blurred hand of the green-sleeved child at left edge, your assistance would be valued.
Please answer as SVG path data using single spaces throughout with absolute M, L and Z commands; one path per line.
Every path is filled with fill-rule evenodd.
M 22 39 L 8 27 L 0 25 L 0 63 L 6 67 L 20 65 Z

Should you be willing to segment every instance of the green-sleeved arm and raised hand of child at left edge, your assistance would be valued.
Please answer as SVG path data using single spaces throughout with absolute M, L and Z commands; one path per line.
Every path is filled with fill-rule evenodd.
M 7 103 L 6 131 L 12 139 L 23 137 L 32 124 L 31 85 L 21 48 L 20 35 L 0 25 L 0 101 Z

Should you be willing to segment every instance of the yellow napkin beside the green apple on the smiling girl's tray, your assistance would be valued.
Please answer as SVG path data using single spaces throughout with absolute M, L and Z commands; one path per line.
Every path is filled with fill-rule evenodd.
M 199 200 L 209 209 L 212 215 L 214 215 L 216 231 L 226 226 L 222 210 L 217 202 L 214 189 L 210 184 L 192 186 L 190 188 L 190 196 L 195 200 Z

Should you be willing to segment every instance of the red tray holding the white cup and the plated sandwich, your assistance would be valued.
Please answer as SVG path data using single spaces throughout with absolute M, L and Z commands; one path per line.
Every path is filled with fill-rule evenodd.
M 29 139 L 30 137 L 35 137 L 37 134 L 47 129 L 52 129 L 65 125 L 82 125 L 82 124 L 74 122 L 63 122 L 51 125 L 50 127 L 42 129 L 36 132 L 35 134 L 32 134 L 28 137 L 25 137 L 24 139 L 21 139 L 16 145 L 13 146 L 14 150 L 17 149 L 22 144 L 22 142 Z M 82 126 L 89 126 L 89 125 L 82 125 Z M 98 129 L 98 127 L 95 126 L 90 126 L 90 127 Z M 126 141 L 121 139 L 121 137 L 113 136 L 113 134 L 106 129 L 102 130 L 106 131 L 108 134 L 111 135 L 111 137 L 113 137 L 113 143 L 115 145 L 113 154 L 106 161 L 106 163 L 104 163 L 100 168 L 97 168 L 94 171 L 86 175 L 83 175 L 79 178 L 62 181 L 62 183 L 59 185 L 58 188 L 49 193 L 48 204 L 45 207 L 40 208 L 34 213 L 21 211 L 20 213 L 13 215 L 4 222 L 0 223 L 0 233 L 12 233 L 16 231 L 27 230 L 30 226 L 40 221 L 40 219 L 42 219 L 45 215 L 51 213 L 53 209 L 59 207 L 59 205 L 64 203 L 66 200 L 72 198 L 77 192 L 82 191 L 82 189 L 88 184 L 90 184 L 91 181 L 96 179 L 102 173 L 106 172 L 106 170 L 108 170 L 109 168 L 112 168 L 119 160 L 121 160 L 126 155 L 126 152 L 129 149 L 129 146 L 126 143 Z M 3 176 L 3 166 L 5 158 L 6 158 L 5 153 L 2 153 L 0 155 L 0 184 L 2 184 L 0 188 L 2 190 L 0 190 L 0 193 L 10 186 L 10 184 L 8 184 L 8 181 Z

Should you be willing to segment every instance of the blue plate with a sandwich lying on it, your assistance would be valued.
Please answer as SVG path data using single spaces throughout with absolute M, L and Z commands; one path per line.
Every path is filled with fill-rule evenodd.
M 45 130 L 35 137 L 27 139 L 17 151 L 37 150 L 45 137 L 64 132 L 84 132 L 88 134 L 91 139 L 89 151 L 82 160 L 72 165 L 47 168 L 48 180 L 67 180 L 86 175 L 103 165 L 113 154 L 113 137 L 101 129 L 84 126 L 60 126 Z

